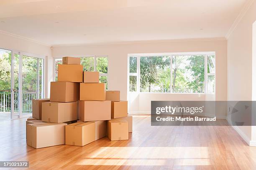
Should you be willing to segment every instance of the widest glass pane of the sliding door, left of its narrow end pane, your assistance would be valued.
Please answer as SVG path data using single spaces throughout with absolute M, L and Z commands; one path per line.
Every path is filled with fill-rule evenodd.
M 32 100 L 37 97 L 37 64 L 35 57 L 22 56 L 22 114 L 32 113 Z

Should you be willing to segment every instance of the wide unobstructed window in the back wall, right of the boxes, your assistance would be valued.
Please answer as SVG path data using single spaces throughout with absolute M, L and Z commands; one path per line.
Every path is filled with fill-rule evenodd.
M 215 54 L 129 56 L 130 92 L 214 93 Z

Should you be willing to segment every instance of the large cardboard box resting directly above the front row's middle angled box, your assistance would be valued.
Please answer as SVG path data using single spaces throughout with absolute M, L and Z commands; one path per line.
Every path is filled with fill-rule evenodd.
M 84 122 L 111 119 L 111 101 L 78 101 L 78 119 Z

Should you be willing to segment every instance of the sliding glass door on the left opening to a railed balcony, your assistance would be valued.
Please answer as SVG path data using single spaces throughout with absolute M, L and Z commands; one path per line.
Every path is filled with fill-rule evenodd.
M 0 49 L 0 121 L 27 117 L 44 98 L 44 57 Z

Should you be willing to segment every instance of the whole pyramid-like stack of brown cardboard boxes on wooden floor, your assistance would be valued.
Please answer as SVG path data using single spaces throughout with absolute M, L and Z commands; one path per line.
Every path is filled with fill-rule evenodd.
M 54 145 L 84 146 L 108 135 L 128 140 L 132 117 L 120 91 L 106 91 L 99 72 L 83 72 L 80 58 L 63 57 L 58 82 L 51 82 L 50 99 L 33 100 L 26 122 L 27 144 L 33 148 Z

